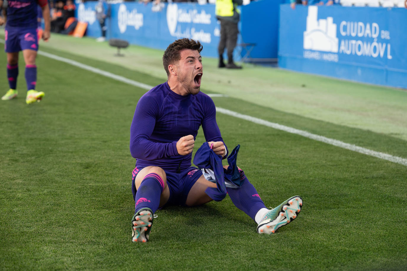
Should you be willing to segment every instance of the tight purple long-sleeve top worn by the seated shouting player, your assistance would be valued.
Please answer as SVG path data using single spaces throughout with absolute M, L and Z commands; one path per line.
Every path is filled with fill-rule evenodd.
M 154 165 L 169 172 L 187 169 L 192 154 L 178 154 L 177 141 L 188 134 L 195 139 L 201 125 L 206 141 L 223 142 L 208 95 L 182 96 L 167 82 L 155 86 L 140 98 L 131 122 L 130 152 L 137 159 L 136 167 Z

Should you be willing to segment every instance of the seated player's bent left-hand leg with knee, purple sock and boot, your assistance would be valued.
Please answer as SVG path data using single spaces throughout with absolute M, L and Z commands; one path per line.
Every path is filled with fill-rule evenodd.
M 134 179 L 134 185 L 137 192 L 134 198 L 135 212 L 131 219 L 132 240 L 147 242 L 153 225 L 153 214 L 168 201 L 170 190 L 164 170 L 154 166 L 140 170 Z

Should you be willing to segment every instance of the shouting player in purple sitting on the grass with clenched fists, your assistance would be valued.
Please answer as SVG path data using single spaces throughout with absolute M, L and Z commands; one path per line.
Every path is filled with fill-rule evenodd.
M 136 204 L 131 219 L 133 242 L 149 239 L 158 208 L 208 203 L 212 198 L 205 190 L 217 187 L 191 166 L 200 126 L 212 151 L 222 159 L 228 154 L 214 103 L 199 91 L 203 75 L 201 50 L 199 41 L 188 38 L 170 44 L 162 57 L 168 81 L 145 93 L 136 106 L 130 130 L 130 152 L 137 159 L 132 180 Z M 296 218 L 302 207 L 300 196 L 269 210 L 240 168 L 239 173 L 243 184 L 228 187 L 227 192 L 234 205 L 256 221 L 259 234 L 272 234 Z

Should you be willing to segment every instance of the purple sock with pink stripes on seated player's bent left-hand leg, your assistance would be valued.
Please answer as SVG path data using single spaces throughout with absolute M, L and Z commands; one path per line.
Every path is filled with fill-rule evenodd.
M 160 205 L 160 196 L 163 189 L 164 182 L 160 175 L 156 173 L 147 174 L 136 192 L 135 211 L 148 207 L 155 213 Z

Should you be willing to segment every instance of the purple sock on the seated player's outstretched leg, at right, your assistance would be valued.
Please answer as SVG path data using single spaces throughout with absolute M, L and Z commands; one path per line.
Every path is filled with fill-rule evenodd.
M 258 210 L 266 208 L 258 195 L 256 188 L 247 180 L 243 170 L 239 170 L 241 178 L 245 179 L 245 182 L 240 188 L 227 188 L 230 199 L 233 204 L 250 216 L 253 220 Z

